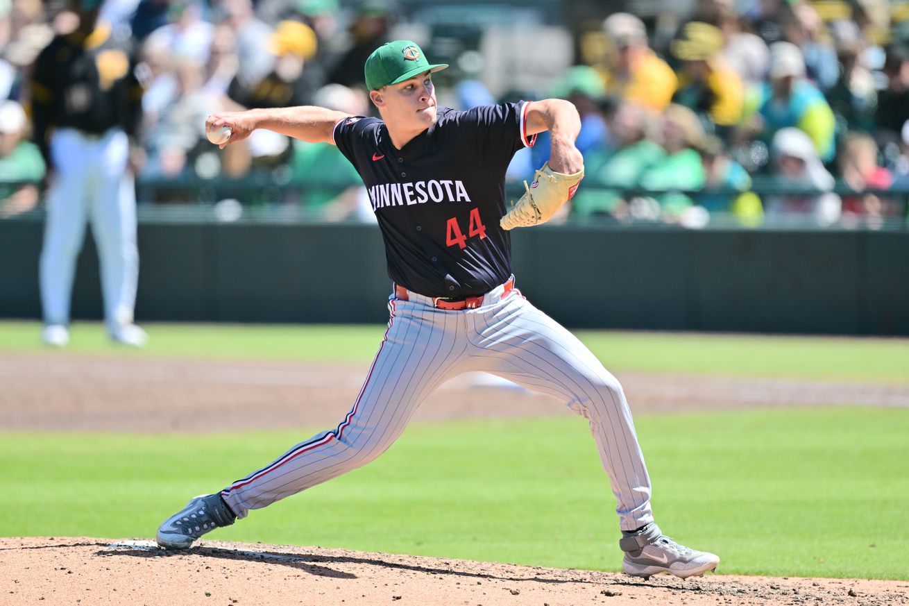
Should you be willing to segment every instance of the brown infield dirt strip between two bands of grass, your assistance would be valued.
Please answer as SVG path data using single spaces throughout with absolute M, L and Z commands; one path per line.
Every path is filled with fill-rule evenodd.
M 233 431 L 333 427 L 368 365 L 0 354 L 0 429 Z M 634 413 L 792 405 L 909 407 L 909 385 L 617 373 Z M 574 414 L 489 375 L 445 383 L 417 420 Z

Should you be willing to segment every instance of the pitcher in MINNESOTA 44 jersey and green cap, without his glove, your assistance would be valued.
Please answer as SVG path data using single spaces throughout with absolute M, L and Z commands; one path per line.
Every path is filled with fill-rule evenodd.
M 560 399 L 590 421 L 617 500 L 624 571 L 641 577 L 712 571 L 714 554 L 663 535 L 618 381 L 584 345 L 514 288 L 504 174 L 514 153 L 549 130 L 554 171 L 580 175 L 577 111 L 554 99 L 438 108 L 430 65 L 410 41 L 383 45 L 365 79 L 382 120 L 321 107 L 210 116 L 231 142 L 255 128 L 330 142 L 356 167 L 385 238 L 391 318 L 363 389 L 332 430 L 297 444 L 220 493 L 191 500 L 161 525 L 158 544 L 189 547 L 219 526 L 374 460 L 445 380 L 485 370 Z M 534 182 L 534 187 L 537 183 Z

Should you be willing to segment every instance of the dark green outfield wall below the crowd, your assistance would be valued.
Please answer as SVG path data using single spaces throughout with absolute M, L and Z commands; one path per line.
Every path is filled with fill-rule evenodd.
M 0 317 L 39 318 L 42 224 L 0 222 Z M 95 248 L 74 317 L 100 318 Z M 375 227 L 146 223 L 136 318 L 384 322 Z M 514 235 L 518 286 L 575 328 L 909 335 L 909 234 L 541 227 Z

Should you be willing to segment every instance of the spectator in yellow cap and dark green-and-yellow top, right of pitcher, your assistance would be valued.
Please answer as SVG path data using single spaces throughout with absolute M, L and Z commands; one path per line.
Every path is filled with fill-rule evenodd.
M 720 132 L 736 126 L 744 108 L 744 86 L 725 65 L 722 48 L 719 28 L 698 21 L 684 25 L 672 44 L 673 55 L 682 62 L 673 102 L 704 116 Z

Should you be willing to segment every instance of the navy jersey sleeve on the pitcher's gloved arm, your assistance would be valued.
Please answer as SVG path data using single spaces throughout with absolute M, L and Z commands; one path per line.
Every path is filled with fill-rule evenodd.
M 507 167 L 518 150 L 536 142 L 536 135 L 527 136 L 529 106 L 519 101 L 474 107 L 461 113 L 458 126 L 484 164 Z

